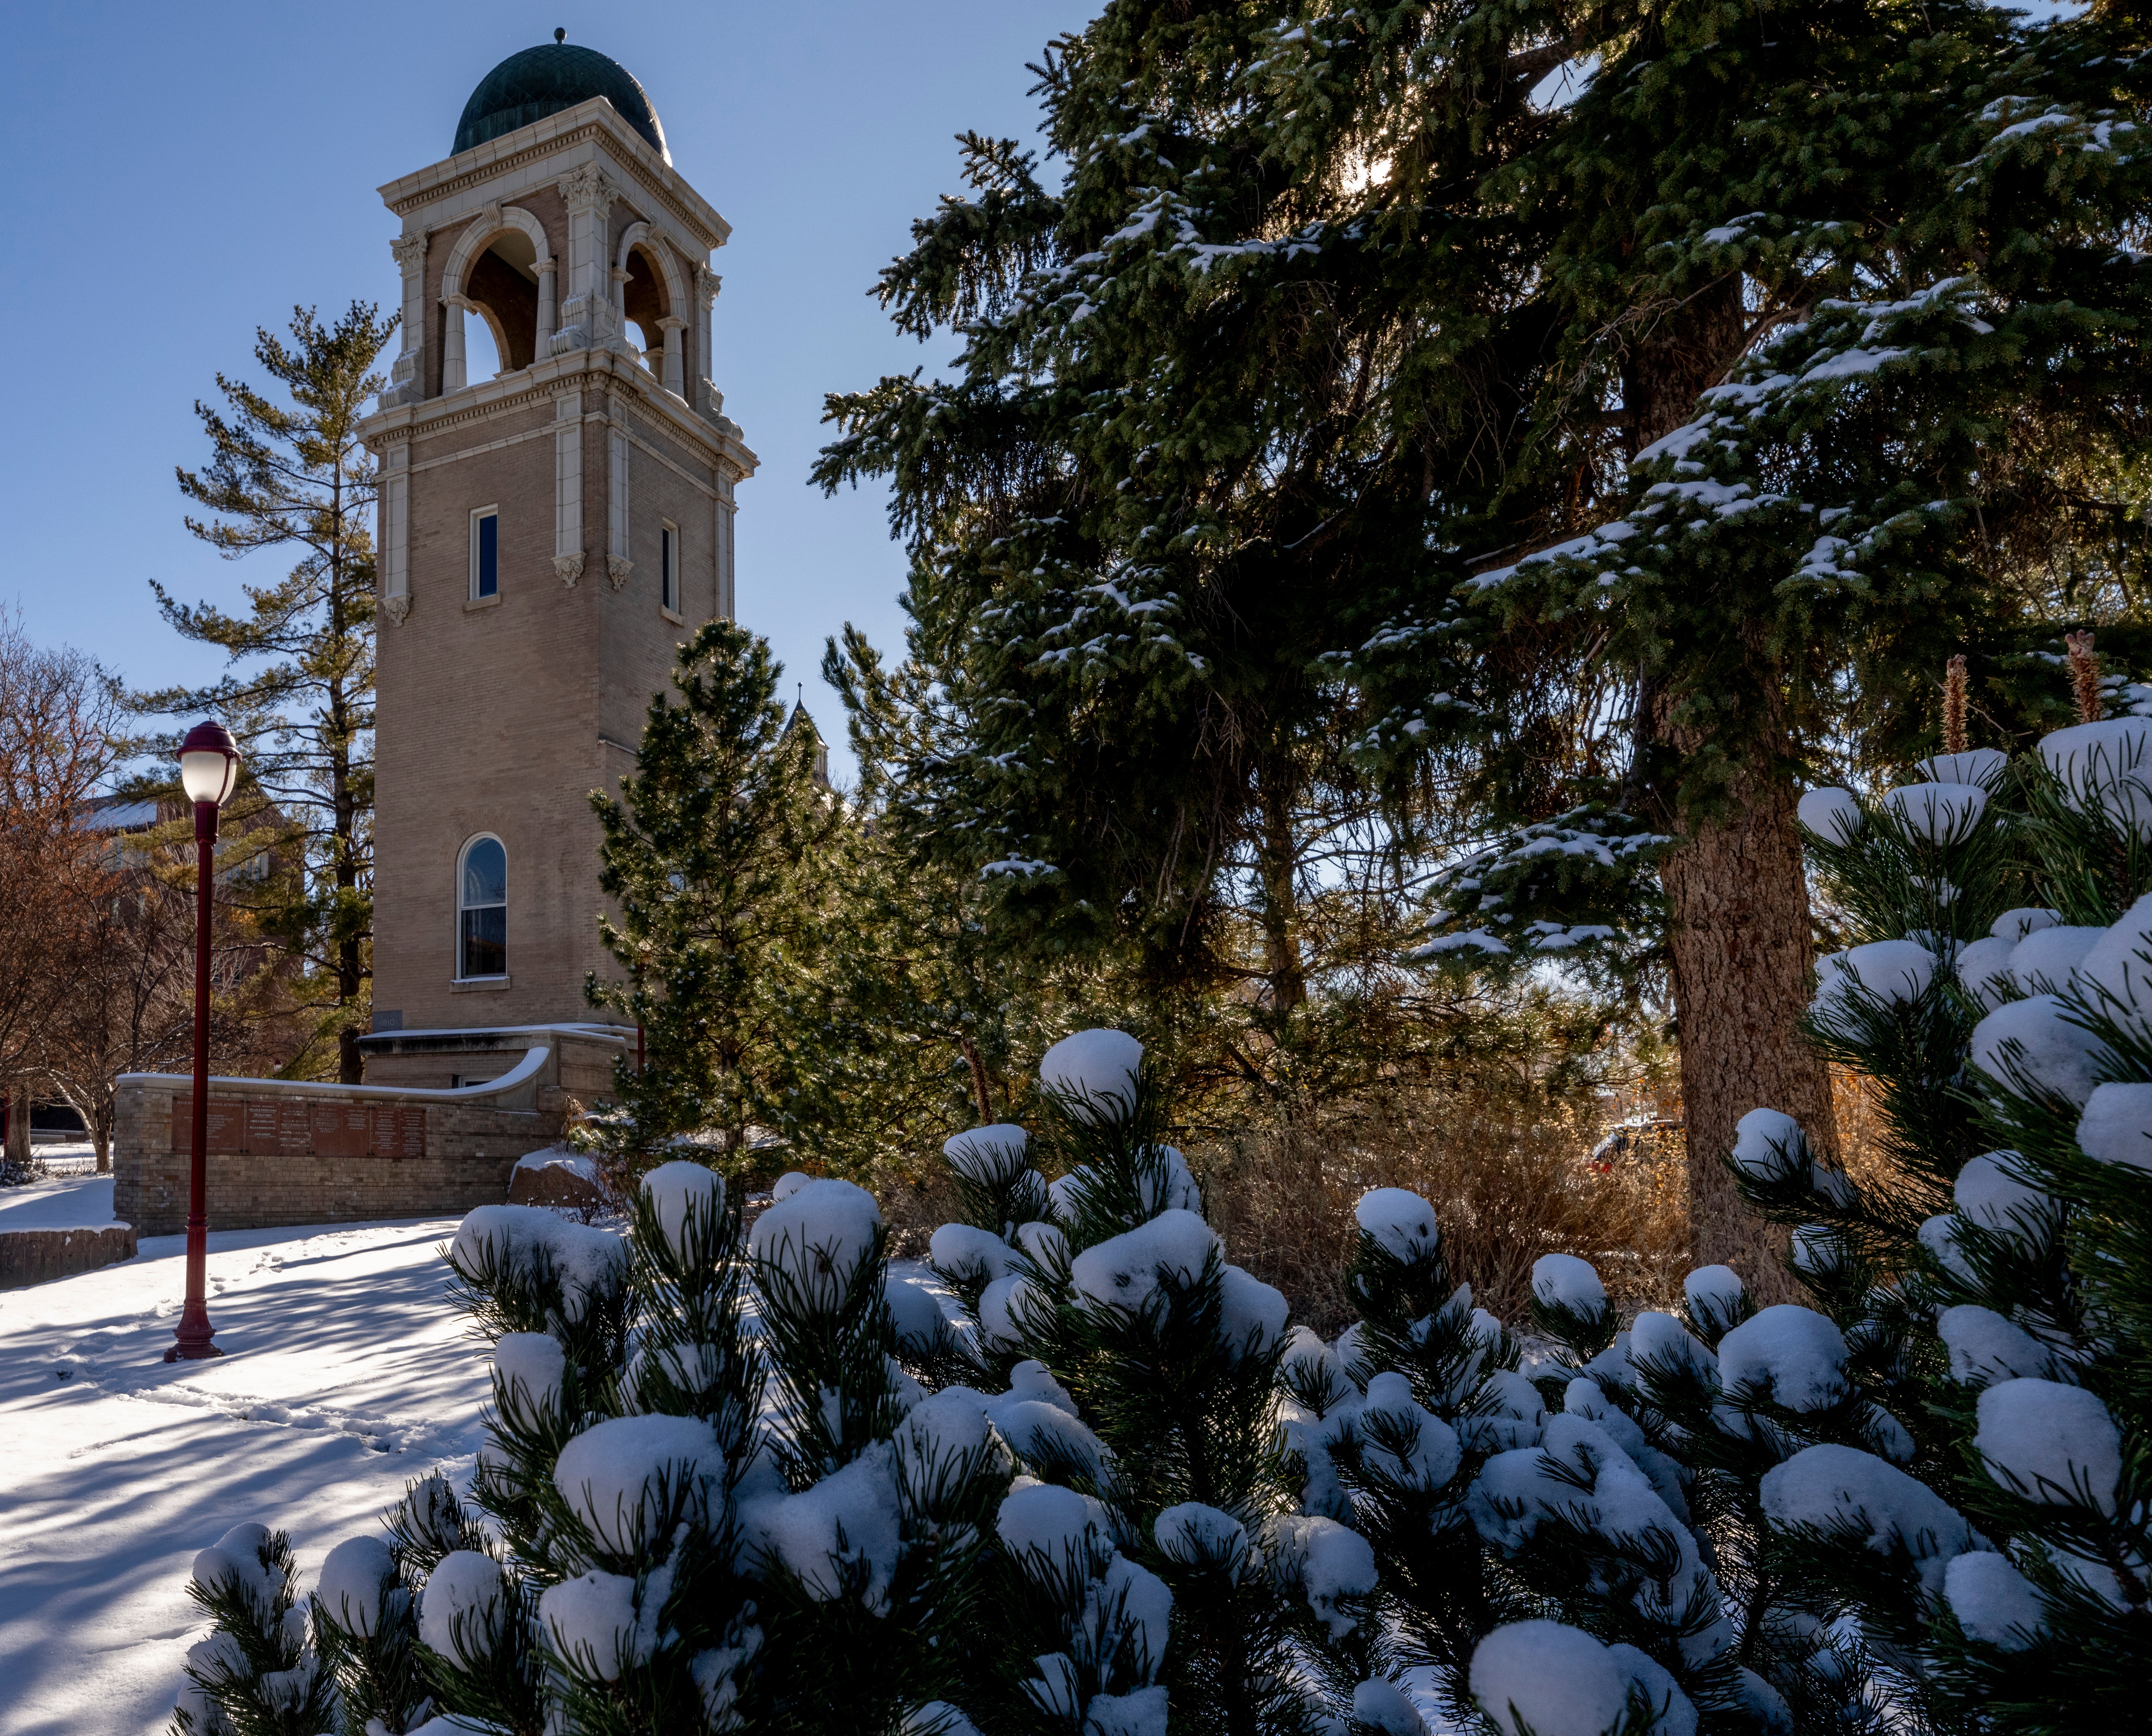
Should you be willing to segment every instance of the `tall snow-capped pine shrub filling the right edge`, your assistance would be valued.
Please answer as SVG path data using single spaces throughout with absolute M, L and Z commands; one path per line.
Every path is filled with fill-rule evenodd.
M 1930 783 L 1988 800 L 1941 835 L 1907 824 L 1945 805 L 1922 785 L 1803 807 L 1855 940 L 1810 1026 L 1881 1088 L 1881 1175 L 1821 1168 L 1769 1114 L 1735 1164 L 1887 1422 L 1756 1482 L 1760 1560 L 1814 1620 L 1853 1618 L 1834 1656 L 1902 1730 L 2143 1719 L 2148 736 L 2075 725 L 2008 770 L 1943 755 Z M 1926 972 L 1868 968 L 1915 947 Z

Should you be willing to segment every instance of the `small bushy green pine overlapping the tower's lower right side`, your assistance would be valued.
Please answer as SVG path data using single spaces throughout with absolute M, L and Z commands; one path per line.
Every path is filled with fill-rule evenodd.
M 710 622 L 676 697 L 650 701 L 622 800 L 592 794 L 598 884 L 620 906 L 598 934 L 622 979 L 594 974 L 587 994 L 646 1033 L 646 1067 L 615 1080 L 615 1134 L 639 1153 L 710 1129 L 730 1162 L 749 1125 L 798 1119 L 822 1061 L 811 953 L 844 811 L 816 783 L 811 734 L 785 727 L 777 675 L 768 643 Z

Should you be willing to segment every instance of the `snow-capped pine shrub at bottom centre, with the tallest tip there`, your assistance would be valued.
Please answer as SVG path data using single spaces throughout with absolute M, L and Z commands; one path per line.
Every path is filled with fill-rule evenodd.
M 973 1222 L 932 1241 L 981 1364 L 1009 1379 L 990 1415 L 1024 1469 L 996 1538 L 1031 1667 L 966 1710 L 1072 1736 L 1162 1736 L 1169 1706 L 1177 1727 L 1250 1736 L 1349 1714 L 1369 1635 L 1339 1643 L 1354 1620 L 1321 1527 L 1343 1527 L 1311 1529 L 1283 1446 L 1285 1297 L 1227 1263 L 1134 1037 L 1063 1039 L 1037 1095 L 1050 1187 L 986 1129 L 1001 1198 L 1037 1215 L 986 1196 L 979 1147 L 955 1140 Z

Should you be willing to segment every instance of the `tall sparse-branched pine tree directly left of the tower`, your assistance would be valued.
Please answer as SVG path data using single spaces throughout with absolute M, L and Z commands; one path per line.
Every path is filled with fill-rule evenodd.
M 189 514 L 187 529 L 224 559 L 295 549 L 297 561 L 280 583 L 245 585 L 243 615 L 176 602 L 153 579 L 181 637 L 247 667 L 133 695 L 138 712 L 189 725 L 211 712 L 239 738 L 258 807 L 232 820 L 267 809 L 291 860 L 241 897 L 301 959 L 314 1037 L 336 1045 L 344 1084 L 359 1080 L 372 979 L 374 465 L 357 424 L 385 383 L 372 364 L 394 331 L 372 303 L 353 301 L 336 325 L 295 308 L 291 342 L 254 333 L 254 359 L 288 404 L 224 374 L 226 407 L 196 402 L 211 460 L 179 469 L 179 488 L 211 516 Z

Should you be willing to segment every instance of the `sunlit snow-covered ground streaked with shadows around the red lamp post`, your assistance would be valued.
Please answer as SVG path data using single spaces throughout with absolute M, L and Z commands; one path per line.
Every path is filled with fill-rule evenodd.
M 32 1213 L 110 1220 L 112 1179 L 0 1194 L 0 1222 Z M 0 1293 L 0 1736 L 161 1732 L 202 1626 L 198 1549 L 243 1519 L 282 1525 L 312 1581 L 411 1478 L 469 1458 L 489 1388 L 435 1256 L 454 1228 L 213 1235 L 226 1355 L 187 1366 L 161 1360 L 183 1237 Z

